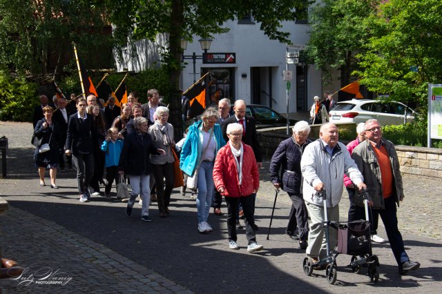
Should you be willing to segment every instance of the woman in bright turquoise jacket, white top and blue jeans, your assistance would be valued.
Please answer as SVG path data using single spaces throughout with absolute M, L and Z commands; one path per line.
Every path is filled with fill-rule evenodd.
M 207 108 L 202 113 L 201 120 L 189 127 L 180 156 L 180 168 L 186 175 L 193 177 L 198 173 L 196 207 L 200 233 L 213 231 L 207 223 L 215 187 L 213 163 L 218 150 L 226 144 L 220 125 L 215 124 L 219 118 L 218 110 Z

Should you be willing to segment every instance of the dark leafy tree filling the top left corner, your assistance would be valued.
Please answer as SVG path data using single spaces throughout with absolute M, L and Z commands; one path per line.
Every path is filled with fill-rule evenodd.
M 113 67 L 104 1 L 0 0 L 0 68 L 27 76 L 73 68 L 72 42 L 88 68 Z M 107 29 L 107 31 L 106 31 Z

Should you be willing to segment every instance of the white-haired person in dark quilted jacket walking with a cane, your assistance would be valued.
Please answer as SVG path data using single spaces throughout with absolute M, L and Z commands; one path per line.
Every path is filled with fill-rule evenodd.
M 293 136 L 282 141 L 271 157 L 270 176 L 275 188 L 282 188 L 291 199 L 289 224 L 286 233 L 291 239 L 299 239 L 301 249 L 307 248 L 309 233 L 307 208 L 302 198 L 302 152 L 310 143 L 307 139 L 310 126 L 307 121 L 298 121 L 293 127 Z M 299 235 L 296 235 L 298 226 Z

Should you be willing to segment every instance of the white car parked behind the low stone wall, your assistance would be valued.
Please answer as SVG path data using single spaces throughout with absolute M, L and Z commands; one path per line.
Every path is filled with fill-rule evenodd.
M 397 101 L 352 99 L 336 103 L 329 115 L 332 123 L 359 124 L 367 119 L 377 119 L 382 126 L 385 126 L 387 124 L 403 124 L 405 115 L 407 122 L 410 122 L 414 119 L 416 112 Z

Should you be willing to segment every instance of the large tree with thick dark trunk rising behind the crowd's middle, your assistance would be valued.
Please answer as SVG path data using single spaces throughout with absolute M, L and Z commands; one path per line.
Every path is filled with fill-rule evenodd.
M 271 39 L 288 42 L 289 33 L 282 32 L 281 21 L 305 19 L 305 0 L 106 0 L 111 21 L 115 24 L 115 39 L 120 46 L 137 39 L 153 40 L 158 33 L 169 33 L 168 54 L 164 57 L 171 88 L 169 97 L 171 124 L 175 138 L 182 137 L 180 120 L 179 77 L 181 70 L 181 38 L 191 40 L 193 35 L 211 37 L 227 32 L 225 21 L 241 19 L 251 14 L 260 28 Z

